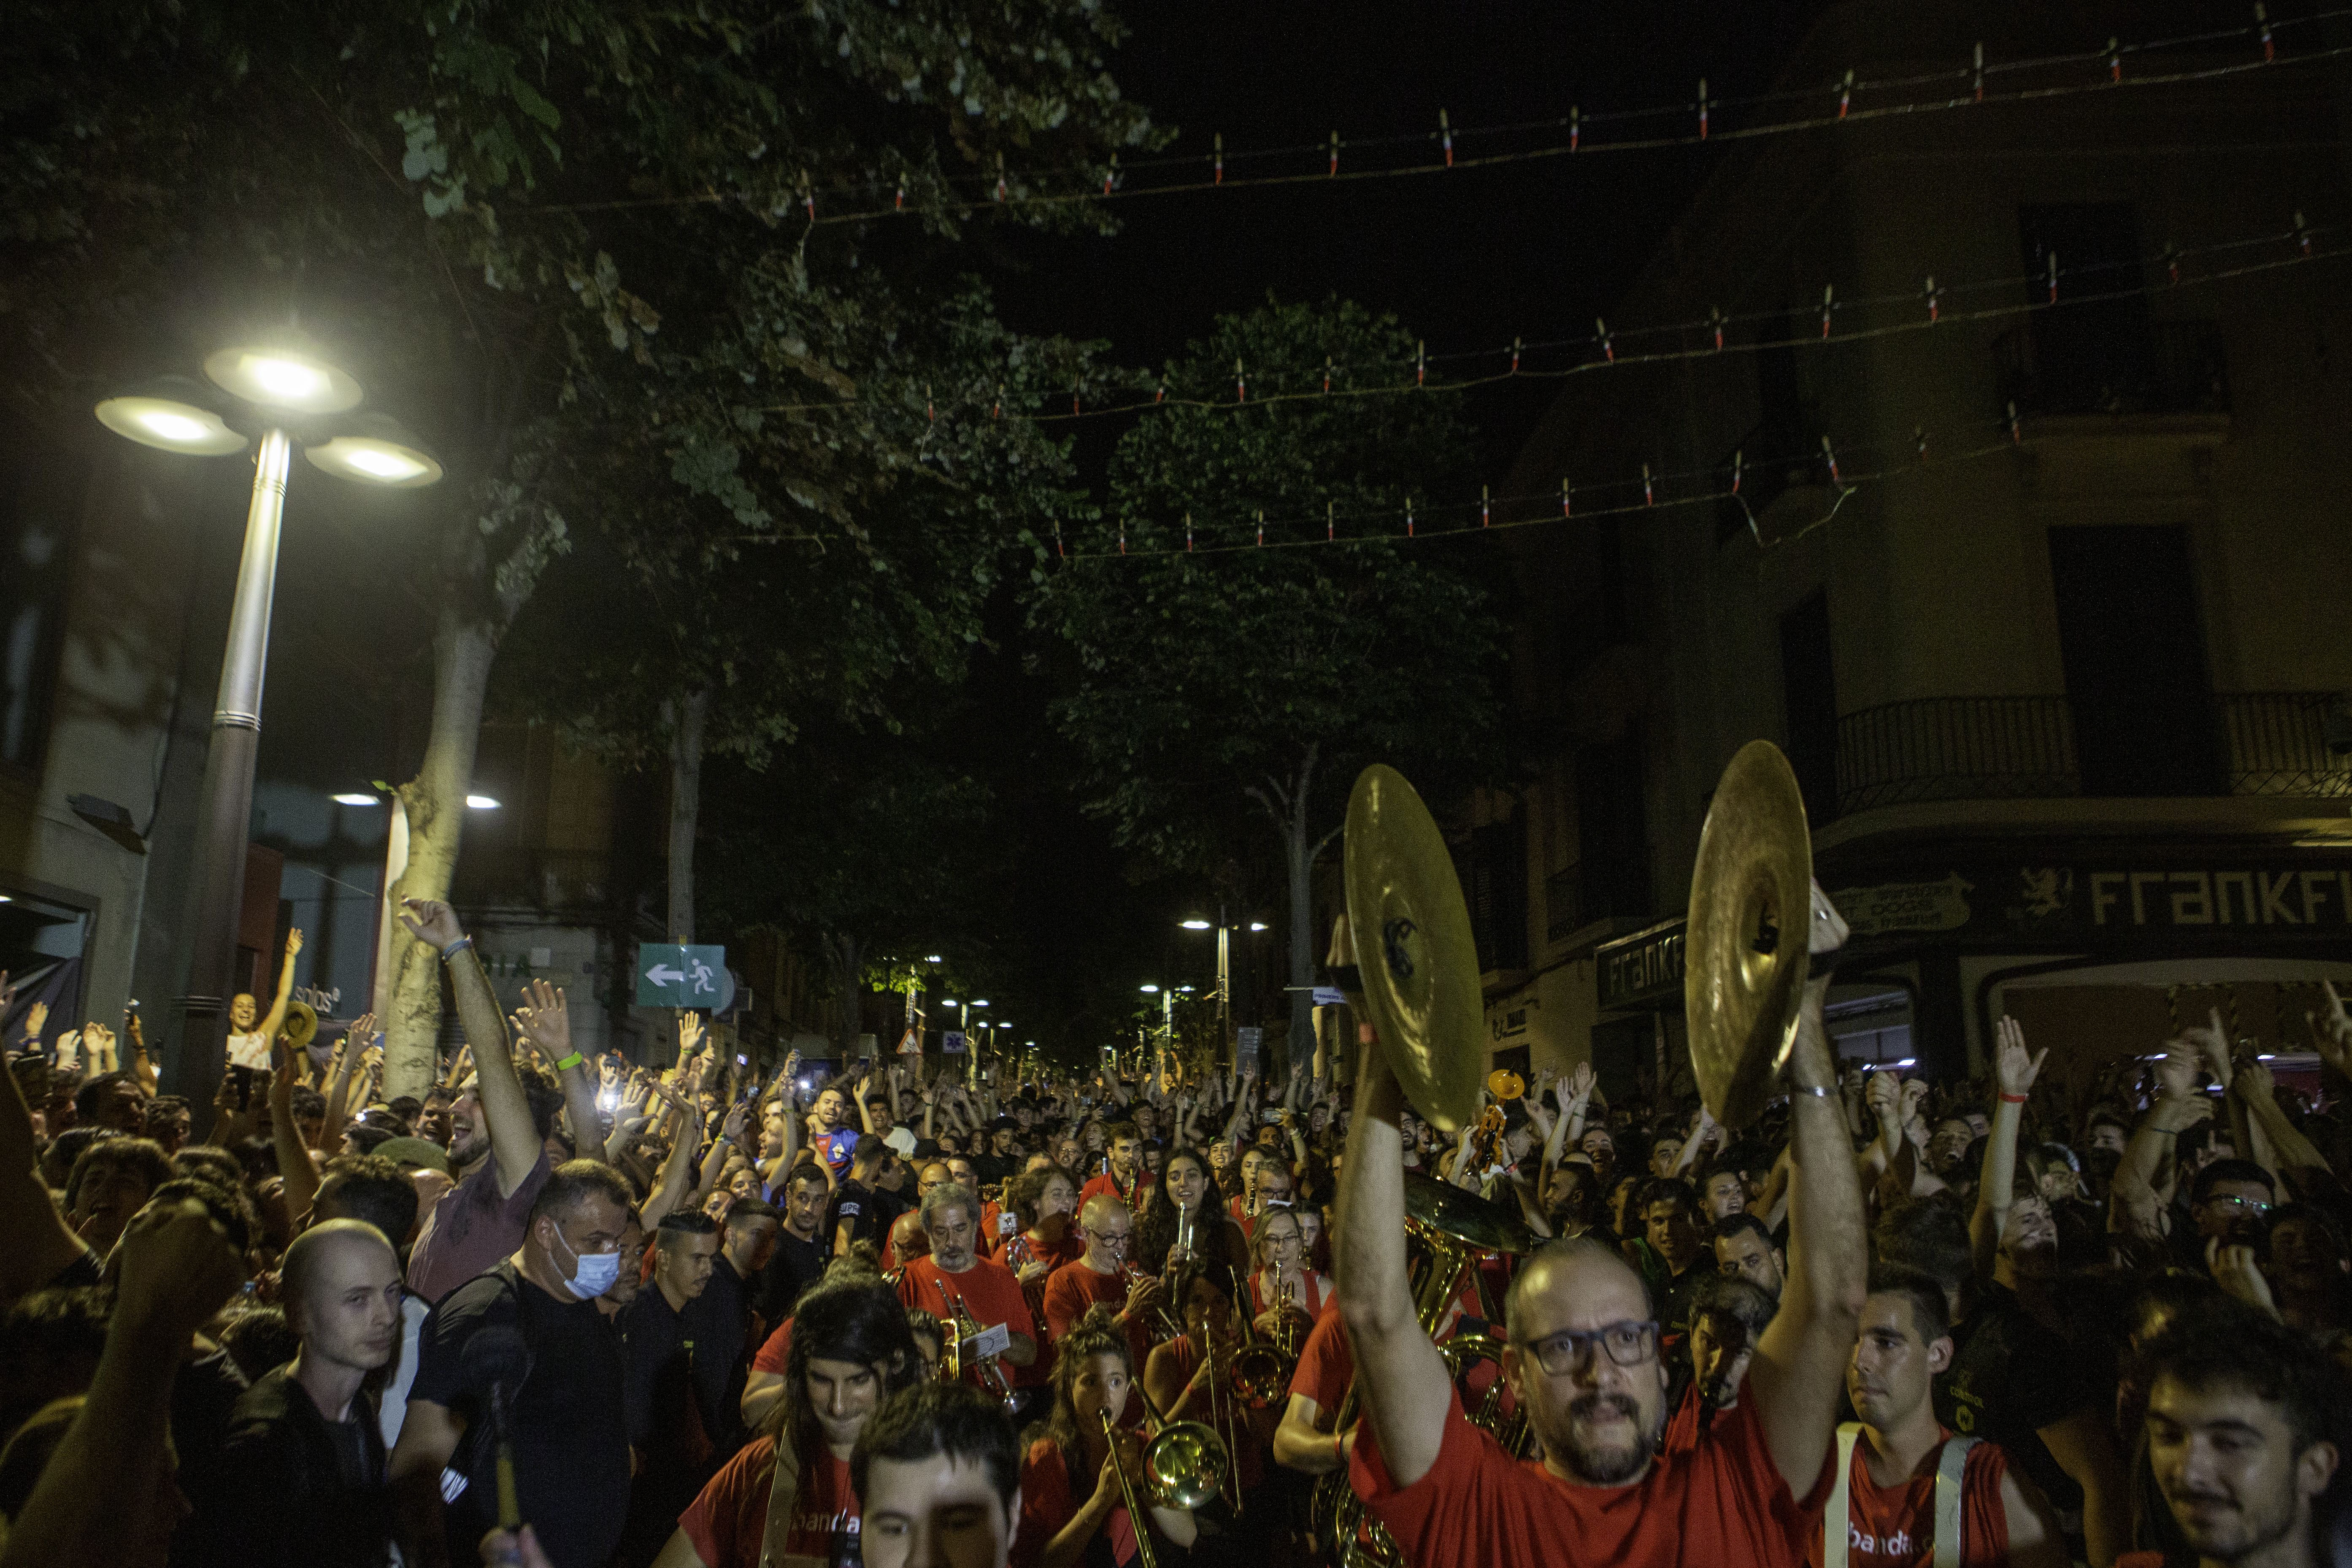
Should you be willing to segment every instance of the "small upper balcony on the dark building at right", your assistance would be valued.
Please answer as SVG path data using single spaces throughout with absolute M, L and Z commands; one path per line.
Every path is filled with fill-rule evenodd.
M 1997 397 L 2020 418 L 2065 414 L 2227 414 L 2216 322 L 2107 322 L 2037 315 L 1992 339 Z

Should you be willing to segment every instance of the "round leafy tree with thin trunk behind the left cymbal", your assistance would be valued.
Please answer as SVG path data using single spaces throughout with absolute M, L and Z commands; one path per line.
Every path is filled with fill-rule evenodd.
M 1475 489 L 1470 428 L 1454 400 L 1350 395 L 1414 353 L 1402 324 L 1345 301 L 1218 317 L 1167 386 L 1235 402 L 1141 418 L 1103 524 L 1033 599 L 1063 644 L 1054 722 L 1122 842 L 1207 867 L 1247 820 L 1277 830 L 1294 985 L 1317 957 L 1312 856 L 1357 769 L 1392 762 L 1430 790 L 1498 750 L 1494 559 L 1477 538 L 1406 538 L 1406 505 Z M 1237 400 L 1237 381 L 1324 376 L 1329 397 Z M 1324 543 L 1327 517 L 1343 543 Z

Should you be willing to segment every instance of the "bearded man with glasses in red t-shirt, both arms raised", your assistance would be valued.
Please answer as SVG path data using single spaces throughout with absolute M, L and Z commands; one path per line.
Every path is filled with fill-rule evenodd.
M 1846 936 L 1818 886 L 1809 936 L 1813 952 Z M 1395 1222 L 1404 1213 L 1402 1095 L 1378 1048 L 1367 1053 L 1336 1232 L 1338 1305 L 1364 1394 L 1350 1481 L 1404 1561 L 1644 1568 L 1804 1556 L 1811 1516 L 1799 1500 L 1828 1469 L 1867 1284 L 1863 1194 L 1820 1025 L 1828 980 L 1806 983 L 1790 1065 L 1795 1180 L 1780 1312 L 1757 1342 L 1748 1396 L 1670 1458 L 1658 1450 L 1668 1366 L 1656 1307 L 1632 1265 L 1588 1239 L 1538 1251 L 1505 1300 L 1503 1375 L 1543 1460 L 1512 1460 L 1463 1418 L 1414 1316 Z

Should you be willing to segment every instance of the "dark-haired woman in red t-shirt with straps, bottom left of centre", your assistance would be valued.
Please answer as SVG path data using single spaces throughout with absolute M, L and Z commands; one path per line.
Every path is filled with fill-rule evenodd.
M 880 1281 L 818 1286 L 793 1312 L 783 1401 L 767 1432 L 736 1453 L 677 1516 L 654 1568 L 760 1568 L 771 1509 L 783 1561 L 823 1563 L 835 1533 L 856 1533 L 849 1450 L 889 1394 L 922 1378 L 906 1307 Z M 776 1448 L 790 1465 L 779 1474 Z

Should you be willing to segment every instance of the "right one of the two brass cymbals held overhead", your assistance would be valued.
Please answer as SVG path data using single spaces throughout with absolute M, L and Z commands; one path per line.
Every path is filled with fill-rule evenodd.
M 1708 806 L 1691 867 L 1682 1009 L 1708 1112 L 1743 1128 L 1797 1041 L 1813 919 L 1804 792 L 1771 741 L 1740 748 Z

